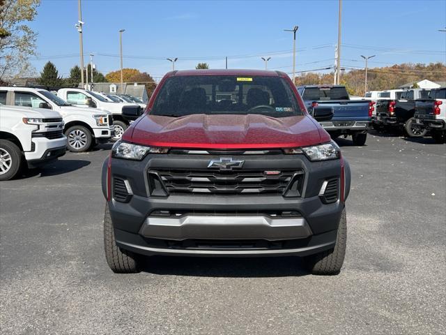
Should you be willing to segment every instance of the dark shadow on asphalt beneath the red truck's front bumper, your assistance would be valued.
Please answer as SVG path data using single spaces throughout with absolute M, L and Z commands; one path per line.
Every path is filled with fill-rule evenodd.
M 143 271 L 151 274 L 225 278 L 306 276 L 298 257 L 198 258 L 152 256 L 144 258 Z

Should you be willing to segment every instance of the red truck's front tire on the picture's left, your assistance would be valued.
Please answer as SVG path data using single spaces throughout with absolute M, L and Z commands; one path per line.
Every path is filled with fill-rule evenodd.
M 112 218 L 110 218 L 109 205 L 105 206 L 104 214 L 104 248 L 105 259 L 116 274 L 135 274 L 139 272 L 137 255 L 116 246 Z

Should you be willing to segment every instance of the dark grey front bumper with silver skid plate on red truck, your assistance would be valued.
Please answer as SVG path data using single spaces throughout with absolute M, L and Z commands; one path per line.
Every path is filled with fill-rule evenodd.
M 160 166 L 183 167 L 209 156 L 152 155 L 144 161 L 112 158 L 111 177 L 125 178 L 127 202 L 109 201 L 116 244 L 144 255 L 308 255 L 334 246 L 344 202 L 324 204 L 318 193 L 328 178 L 340 177 L 340 161 L 311 163 L 291 156 L 250 157 L 245 161 L 273 167 L 305 170 L 302 196 L 282 195 L 148 195 L 147 172 Z M 107 197 L 107 164 L 102 190 Z M 248 159 L 250 161 L 248 161 Z M 350 169 L 345 162 L 345 198 Z M 201 166 L 200 166 L 201 168 Z M 113 187 L 113 186 L 112 186 Z M 290 216 L 277 213 L 290 212 Z M 275 213 L 275 214 L 271 214 Z

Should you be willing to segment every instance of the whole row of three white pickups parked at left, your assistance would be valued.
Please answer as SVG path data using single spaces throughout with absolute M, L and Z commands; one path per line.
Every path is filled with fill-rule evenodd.
M 115 103 L 84 89 L 54 94 L 33 87 L 0 87 L 0 180 L 65 154 L 119 140 L 142 113 L 136 103 Z

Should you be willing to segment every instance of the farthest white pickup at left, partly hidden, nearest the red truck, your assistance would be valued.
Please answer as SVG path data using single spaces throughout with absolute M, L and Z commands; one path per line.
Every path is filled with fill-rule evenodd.
M 123 117 L 123 108 L 134 110 L 134 114 L 142 113 L 139 105 L 135 105 L 134 103 L 114 103 L 96 92 L 85 89 L 59 89 L 57 95 L 71 105 L 78 107 L 94 107 L 98 110 L 112 112 L 114 120 L 114 137 L 112 137 L 112 140 L 114 141 L 121 138 L 124 131 L 130 125 L 130 121 L 132 121 Z

